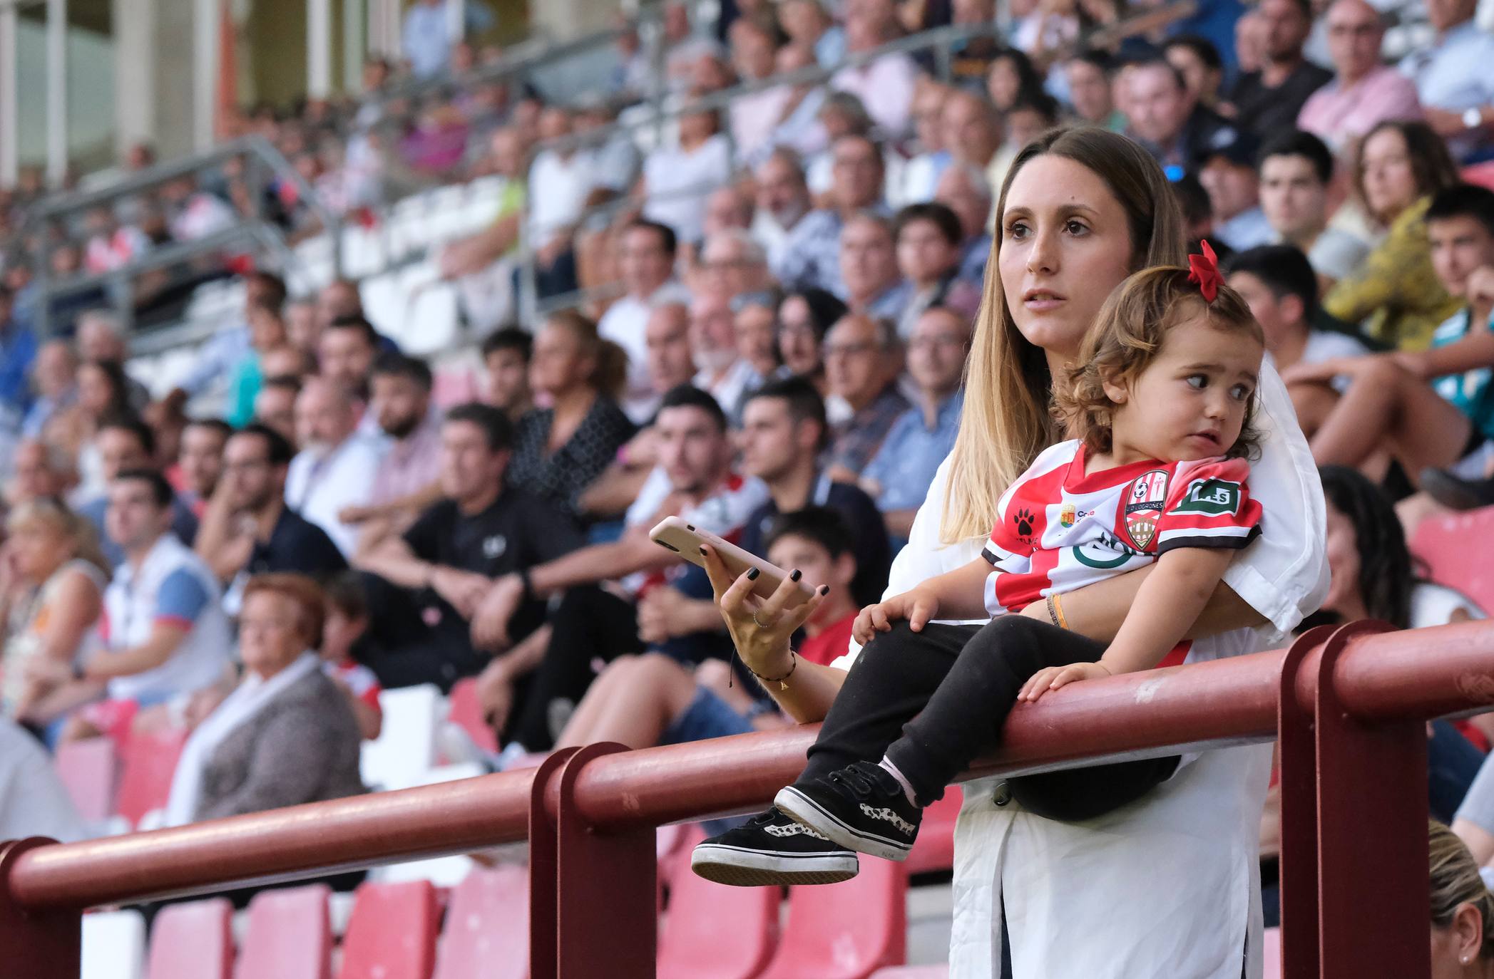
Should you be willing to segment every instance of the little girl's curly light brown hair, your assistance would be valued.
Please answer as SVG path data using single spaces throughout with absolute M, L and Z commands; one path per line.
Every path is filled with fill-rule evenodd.
M 1188 279 L 1188 269 L 1143 269 L 1118 285 L 1085 334 L 1079 364 L 1068 367 L 1061 384 L 1053 385 L 1053 415 L 1068 437 L 1083 440 L 1091 452 L 1109 452 L 1116 403 L 1106 394 L 1106 382 L 1134 381 L 1161 354 L 1167 331 L 1198 313 L 1216 330 L 1246 333 L 1265 343 L 1245 297 L 1221 285 L 1215 300 L 1206 303 L 1198 285 Z M 1225 455 L 1258 457 L 1261 433 L 1253 424 L 1255 406 L 1252 394 L 1240 437 Z

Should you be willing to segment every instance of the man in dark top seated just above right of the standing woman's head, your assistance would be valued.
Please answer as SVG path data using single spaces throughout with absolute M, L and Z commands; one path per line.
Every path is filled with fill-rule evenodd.
M 1131 66 L 1125 88 L 1126 136 L 1164 167 L 1188 170 L 1209 148 L 1236 133 L 1224 116 L 1189 97 L 1182 73 L 1162 58 Z

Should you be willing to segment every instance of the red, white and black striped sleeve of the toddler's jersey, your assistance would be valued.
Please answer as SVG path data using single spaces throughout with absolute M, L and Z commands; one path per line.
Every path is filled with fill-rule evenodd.
M 1156 525 L 1156 554 L 1173 548 L 1243 548 L 1261 533 L 1245 460 L 1180 463 Z

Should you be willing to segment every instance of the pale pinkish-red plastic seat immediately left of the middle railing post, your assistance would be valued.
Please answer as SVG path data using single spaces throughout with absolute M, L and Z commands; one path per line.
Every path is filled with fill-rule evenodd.
M 474 870 L 451 889 L 433 979 L 529 976 L 529 875 L 523 867 Z

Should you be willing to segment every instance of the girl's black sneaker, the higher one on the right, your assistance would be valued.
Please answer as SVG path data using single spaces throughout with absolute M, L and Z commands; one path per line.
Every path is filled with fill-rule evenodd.
M 832 843 L 884 860 L 908 858 L 923 819 L 892 773 L 874 761 L 790 785 L 772 804 Z

